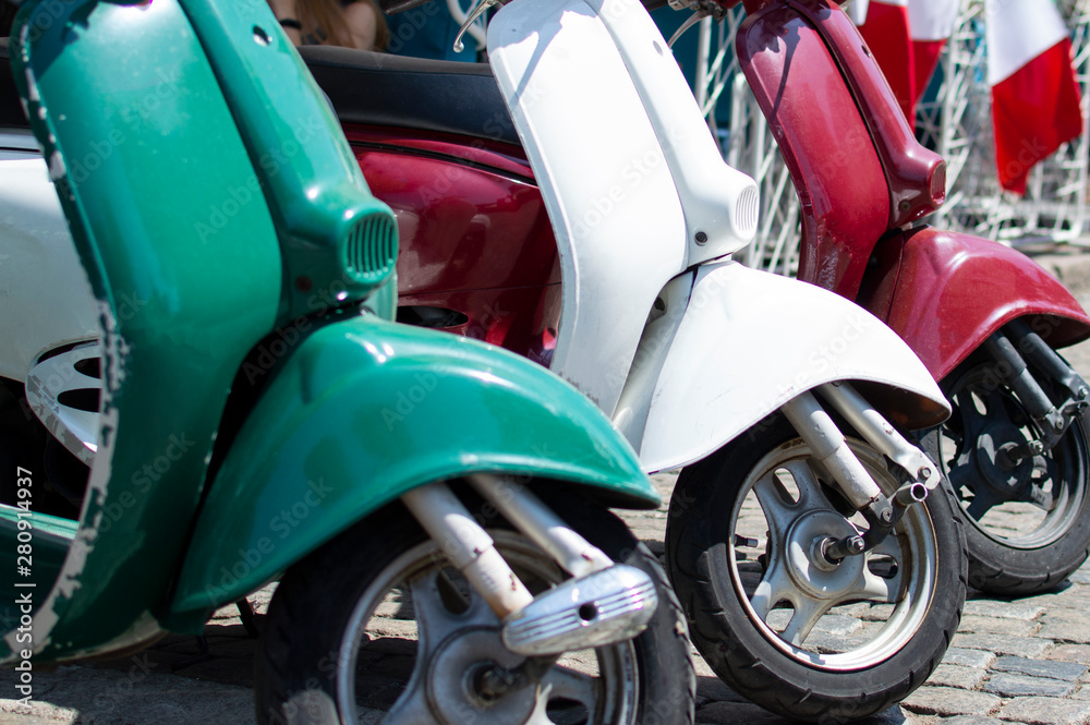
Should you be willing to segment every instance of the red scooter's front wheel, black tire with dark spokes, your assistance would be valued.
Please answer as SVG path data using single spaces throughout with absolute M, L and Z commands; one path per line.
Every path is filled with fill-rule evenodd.
M 1054 402 L 1066 398 L 1054 382 L 1034 377 Z M 966 446 L 967 416 L 974 419 L 968 422 L 970 430 L 986 431 L 991 448 L 1040 434 L 1015 394 L 995 375 L 994 363 L 970 360 L 946 376 L 942 388 L 954 413 L 929 432 L 923 444 L 940 463 L 944 485 L 965 510 L 970 585 L 1002 596 L 1055 588 L 1090 554 L 1090 411 L 1073 421 L 1052 450 L 1003 470 L 988 448 Z M 1051 500 L 1039 493 L 1034 499 L 1034 491 L 1047 491 Z M 1008 525 L 1015 522 L 1017 530 Z

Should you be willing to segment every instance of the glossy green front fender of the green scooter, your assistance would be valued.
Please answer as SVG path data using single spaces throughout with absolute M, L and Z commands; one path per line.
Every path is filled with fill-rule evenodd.
M 198 627 L 402 493 L 482 471 L 586 484 L 610 505 L 658 505 L 608 421 L 544 370 L 373 316 L 328 324 L 275 371 L 232 443 L 167 620 Z

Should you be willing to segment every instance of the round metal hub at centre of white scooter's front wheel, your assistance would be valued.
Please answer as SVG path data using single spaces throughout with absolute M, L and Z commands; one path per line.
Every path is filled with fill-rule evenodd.
M 811 511 L 799 517 L 787 535 L 787 571 L 808 595 L 832 600 L 852 589 L 865 566 L 865 556 L 849 556 L 837 563 L 822 553 L 825 541 L 859 533 L 835 511 Z

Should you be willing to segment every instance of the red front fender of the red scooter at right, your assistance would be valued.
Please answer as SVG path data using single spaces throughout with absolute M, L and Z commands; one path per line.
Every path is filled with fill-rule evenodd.
M 921 227 L 884 239 L 885 273 L 858 302 L 884 319 L 943 379 L 1002 325 L 1030 317 L 1053 348 L 1090 337 L 1090 317 L 1036 262 L 985 239 Z

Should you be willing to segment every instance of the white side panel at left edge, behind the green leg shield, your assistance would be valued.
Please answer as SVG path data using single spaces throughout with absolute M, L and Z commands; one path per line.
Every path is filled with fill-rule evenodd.
M 95 299 L 57 192 L 28 135 L 0 134 L 0 376 L 23 382 L 37 355 L 97 339 Z M 33 143 L 33 140 L 31 140 Z

